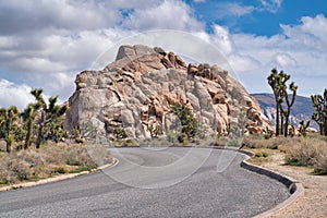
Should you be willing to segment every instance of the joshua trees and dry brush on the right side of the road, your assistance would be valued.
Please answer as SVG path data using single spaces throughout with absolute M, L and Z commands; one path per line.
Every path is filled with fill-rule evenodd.
M 310 167 L 313 169 L 313 173 L 327 174 L 327 89 L 323 95 L 311 97 L 315 108 L 312 120 L 319 125 L 320 134 L 307 133 L 311 120 L 301 121 L 295 133 L 295 128 L 289 126 L 289 114 L 296 97 L 298 87 L 292 82 L 289 85 L 292 94 L 289 95 L 287 92 L 289 80 L 290 75 L 283 71 L 278 73 L 276 69 L 272 69 L 268 76 L 268 84 L 272 88 L 276 99 L 276 136 L 247 135 L 243 138 L 243 146 L 254 149 L 255 158 L 267 158 L 269 150 L 278 150 L 284 154 L 286 165 Z M 283 109 L 283 102 L 287 109 Z

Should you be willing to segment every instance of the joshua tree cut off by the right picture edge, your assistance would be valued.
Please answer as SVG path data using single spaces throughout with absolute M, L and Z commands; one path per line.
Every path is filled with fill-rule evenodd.
M 319 125 L 320 135 L 327 135 L 327 88 L 324 95 L 311 96 L 315 112 L 312 119 Z

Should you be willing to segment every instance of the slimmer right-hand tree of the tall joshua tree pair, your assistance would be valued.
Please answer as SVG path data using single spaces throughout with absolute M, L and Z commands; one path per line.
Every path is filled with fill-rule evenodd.
M 283 111 L 284 112 L 284 131 L 283 131 L 283 135 L 287 137 L 288 136 L 288 130 L 289 130 L 289 121 L 290 121 L 290 113 L 291 113 L 291 108 L 293 107 L 294 102 L 295 102 L 295 98 L 296 98 L 296 90 L 298 90 L 298 86 L 295 86 L 294 82 L 292 82 L 289 86 L 290 90 L 292 92 L 292 99 L 289 99 L 289 94 L 287 92 L 287 87 L 282 86 L 282 95 L 286 99 L 286 104 L 287 104 L 287 109 Z

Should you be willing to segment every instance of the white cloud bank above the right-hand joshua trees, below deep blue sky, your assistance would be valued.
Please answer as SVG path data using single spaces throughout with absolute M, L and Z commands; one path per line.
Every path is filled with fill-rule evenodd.
M 269 69 L 279 68 L 292 75 L 299 84 L 299 93 L 311 95 L 314 88 L 308 86 L 308 77 L 316 78 L 315 86 L 326 87 L 327 81 L 327 20 L 324 15 L 315 17 L 304 16 L 298 25 L 281 25 L 282 33 L 271 37 L 254 36 L 249 34 L 234 34 L 232 39 L 238 50 L 261 64 L 252 72 L 247 72 L 244 82 L 250 84 L 251 90 L 256 89 L 253 80 L 265 81 Z M 242 73 L 242 71 L 240 72 Z M 253 87 L 252 88 L 252 84 Z

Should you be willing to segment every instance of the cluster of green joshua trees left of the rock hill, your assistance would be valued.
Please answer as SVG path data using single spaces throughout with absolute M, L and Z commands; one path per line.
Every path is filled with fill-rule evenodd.
M 27 149 L 34 144 L 39 148 L 46 140 L 58 142 L 69 136 L 62 129 L 62 116 L 68 106 L 59 106 L 57 96 L 50 97 L 47 104 L 43 89 L 34 88 L 31 94 L 35 102 L 28 104 L 22 112 L 15 106 L 0 109 L 0 138 L 5 142 L 7 153 L 12 152 L 12 146 Z

